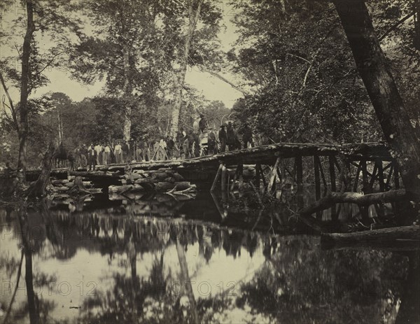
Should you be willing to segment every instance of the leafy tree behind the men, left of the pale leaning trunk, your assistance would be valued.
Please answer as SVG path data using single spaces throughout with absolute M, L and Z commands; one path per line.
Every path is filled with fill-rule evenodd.
M 90 83 L 106 78 L 106 94 L 118 97 L 124 111 L 123 136 L 130 139 L 132 112 L 155 106 L 160 60 L 153 55 L 160 36 L 154 32 L 158 1 L 85 1 L 95 28 L 80 35 L 71 55 L 73 74 Z M 104 19 L 104 17 L 106 19 Z

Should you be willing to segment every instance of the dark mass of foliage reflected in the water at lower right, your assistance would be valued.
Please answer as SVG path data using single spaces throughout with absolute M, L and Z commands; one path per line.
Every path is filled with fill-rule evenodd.
M 285 323 L 395 321 L 407 260 L 367 250 L 319 251 L 309 244 L 302 238 L 283 242 L 281 251 L 241 288 L 237 305 Z

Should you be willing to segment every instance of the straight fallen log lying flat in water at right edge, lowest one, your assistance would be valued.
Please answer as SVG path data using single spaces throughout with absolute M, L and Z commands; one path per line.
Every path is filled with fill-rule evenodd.
M 365 244 L 377 244 L 377 246 L 388 246 L 403 248 L 417 246 L 420 249 L 420 226 L 400 226 L 381 228 L 380 230 L 368 230 L 353 233 L 323 233 L 321 244 L 325 246 L 363 246 Z

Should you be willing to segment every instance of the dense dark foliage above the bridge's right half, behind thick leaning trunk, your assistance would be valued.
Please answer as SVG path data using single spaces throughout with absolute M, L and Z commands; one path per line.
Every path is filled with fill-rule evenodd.
M 413 1 L 374 1 L 378 34 L 413 10 Z M 239 39 L 228 57 L 255 92 L 234 109 L 265 141 L 360 142 L 381 139 L 332 3 L 239 1 Z M 412 23 L 395 29 L 384 50 L 400 92 L 419 122 L 419 51 Z M 390 38 L 390 39 L 389 39 Z

